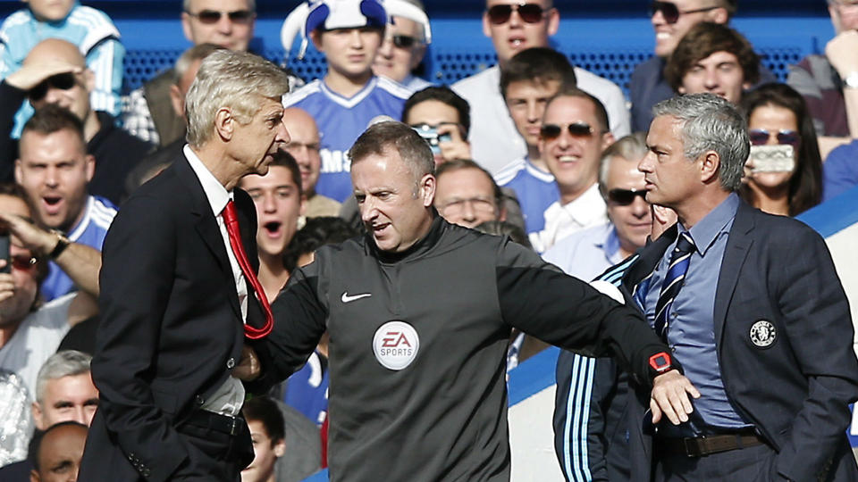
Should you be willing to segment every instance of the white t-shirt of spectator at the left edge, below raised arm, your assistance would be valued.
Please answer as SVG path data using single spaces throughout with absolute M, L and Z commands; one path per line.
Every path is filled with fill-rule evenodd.
M 36 378 L 48 357 L 69 331 L 69 306 L 76 293 L 60 296 L 27 315 L 3 348 L 0 369 L 17 373 L 29 390 L 29 400 L 36 398 Z

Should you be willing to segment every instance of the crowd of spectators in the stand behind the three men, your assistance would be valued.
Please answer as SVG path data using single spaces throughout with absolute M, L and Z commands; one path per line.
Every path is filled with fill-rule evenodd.
M 652 106 L 671 96 L 709 92 L 741 108 L 752 154 L 739 194 L 764 212 L 795 216 L 858 185 L 858 4 L 828 0 L 836 37 L 778 83 L 729 27 L 736 3 L 653 2 L 655 52 L 635 68 L 630 103 L 551 47 L 551 0 L 486 0 L 498 63 L 451 86 L 418 75 L 432 42 L 419 0 L 301 4 L 287 24 L 324 54 L 326 73 L 288 72 L 290 141 L 268 174 L 240 182 L 257 208 L 268 299 L 315 249 L 360 233 L 347 153 L 380 119 L 432 146 L 444 219 L 512 236 L 586 280 L 644 246 L 653 217 L 670 216 L 646 203 L 637 165 Z M 123 200 L 186 144 L 184 97 L 200 62 L 247 51 L 256 20 L 254 0 L 184 0 L 193 46 L 122 98 L 126 47 L 104 12 L 29 0 L 0 26 L 0 234 L 12 240 L 0 261 L 0 387 L 16 394 L 0 412 L 18 417 L 0 434 L 11 441 L 0 444 L 3 480 L 50 480 L 57 460 L 77 470 L 97 406 L 86 352 L 98 250 Z M 293 38 L 283 41 L 289 51 Z M 782 162 L 767 162 L 771 153 Z M 510 342 L 509 368 L 535 351 L 517 333 Z M 257 459 L 244 481 L 325 466 L 327 357 L 323 338 L 302 370 L 245 404 Z

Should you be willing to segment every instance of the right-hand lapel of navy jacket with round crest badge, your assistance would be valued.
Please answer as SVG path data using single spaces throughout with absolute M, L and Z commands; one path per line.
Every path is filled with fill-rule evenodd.
M 727 308 L 736 291 L 739 273 L 742 271 L 745 258 L 753 244 L 753 208 L 748 204 L 739 203 L 736 218 L 730 228 L 727 246 L 724 248 L 724 259 L 718 276 L 718 287 L 715 291 L 715 309 L 712 312 L 712 322 L 715 329 L 715 343 L 720 345 L 724 334 L 724 321 L 727 319 Z

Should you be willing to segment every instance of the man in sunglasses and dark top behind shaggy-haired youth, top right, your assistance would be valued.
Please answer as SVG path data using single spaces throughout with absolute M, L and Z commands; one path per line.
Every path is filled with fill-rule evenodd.
M 702 21 L 726 24 L 736 14 L 736 0 L 653 1 L 650 21 L 655 31 L 655 55 L 632 72 L 629 96 L 632 101 L 632 129 L 646 132 L 652 121 L 652 106 L 669 99 L 674 89 L 664 77 L 664 67 L 679 40 Z M 761 82 L 775 82 L 774 75 L 760 68 Z

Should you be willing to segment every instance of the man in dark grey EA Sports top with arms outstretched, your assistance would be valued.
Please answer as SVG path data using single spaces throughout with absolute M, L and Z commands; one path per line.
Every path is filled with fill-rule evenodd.
M 639 315 L 508 237 L 437 214 L 434 156 L 414 129 L 375 124 L 349 157 L 367 235 L 319 248 L 292 273 L 257 380 L 264 388 L 289 376 L 328 331 L 332 479 L 509 480 L 513 327 L 614 353 L 657 386 L 657 406 L 676 407 L 677 423 L 686 417 L 694 387 Z

